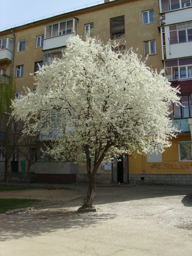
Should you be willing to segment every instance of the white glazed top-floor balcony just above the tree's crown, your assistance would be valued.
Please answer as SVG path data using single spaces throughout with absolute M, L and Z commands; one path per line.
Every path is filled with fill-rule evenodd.
M 59 48 L 67 44 L 70 36 L 78 33 L 78 19 L 70 18 L 45 26 L 43 50 Z

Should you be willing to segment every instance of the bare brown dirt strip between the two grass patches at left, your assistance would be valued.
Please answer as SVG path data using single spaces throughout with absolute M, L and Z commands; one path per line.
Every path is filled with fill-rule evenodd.
M 78 196 L 82 196 L 80 191 L 64 188 L 56 190 L 38 188 L 0 192 L 0 198 L 40 199 L 59 202 L 66 202 L 70 199 L 77 198 Z

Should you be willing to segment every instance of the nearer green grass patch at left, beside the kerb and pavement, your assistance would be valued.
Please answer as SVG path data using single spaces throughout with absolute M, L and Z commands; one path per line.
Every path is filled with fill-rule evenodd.
M 33 207 L 38 204 L 47 203 L 46 200 L 36 200 L 36 199 L 0 199 L 0 213 L 5 213 L 7 211 L 12 211 L 20 208 Z

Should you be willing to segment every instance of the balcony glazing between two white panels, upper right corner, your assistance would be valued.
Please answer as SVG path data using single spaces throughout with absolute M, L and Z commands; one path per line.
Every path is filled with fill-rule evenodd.
M 192 41 L 192 22 L 169 26 L 170 44 Z

